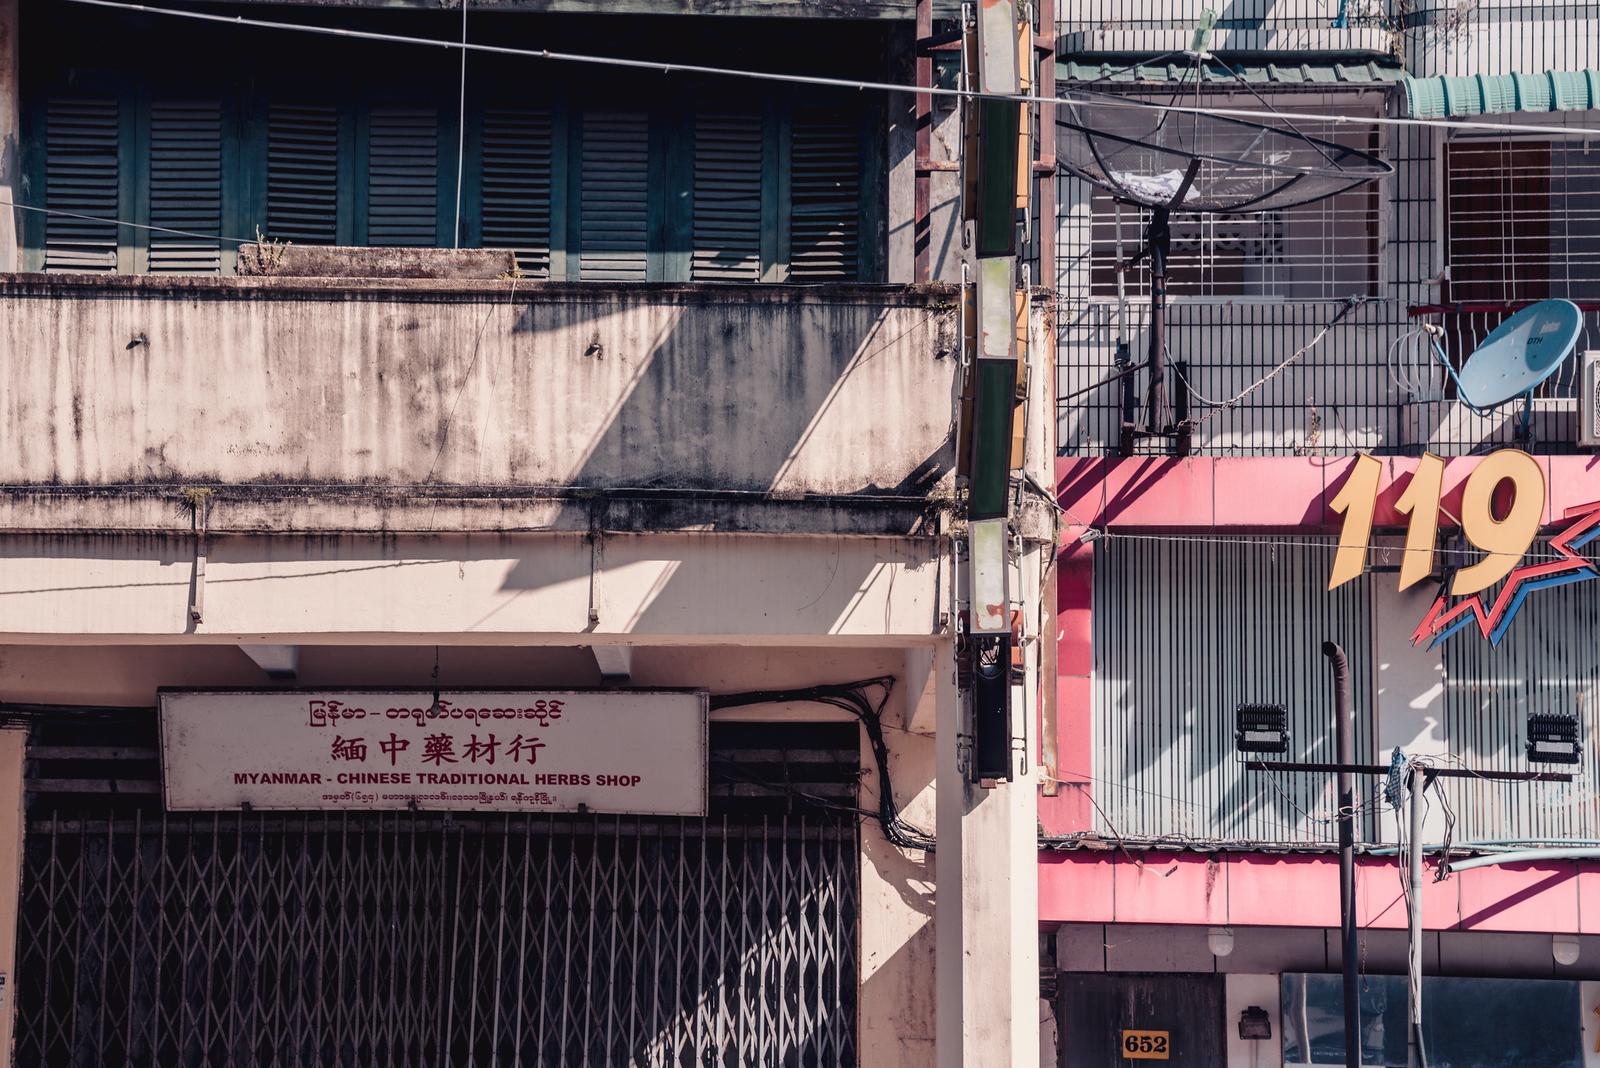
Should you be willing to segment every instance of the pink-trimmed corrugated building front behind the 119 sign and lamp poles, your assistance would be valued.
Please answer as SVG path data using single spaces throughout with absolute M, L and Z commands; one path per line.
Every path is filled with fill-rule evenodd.
M 1480 462 L 1446 462 L 1442 545 L 1456 544 L 1448 516 L 1461 515 L 1462 484 Z M 1054 753 L 1045 755 L 1046 766 L 1054 758 L 1054 767 L 1046 769 L 1054 790 L 1046 788 L 1040 799 L 1038 900 L 1043 953 L 1058 970 L 1054 1038 L 1062 1065 L 1099 1063 L 1093 1060 L 1094 1034 L 1085 1031 L 1104 1030 L 1107 1006 L 1123 1014 L 1122 1026 L 1198 1034 L 1187 1050 L 1197 1060 L 1182 1062 L 1174 1052 L 1182 1063 L 1342 1063 L 1328 1057 L 1328 1026 L 1339 1025 L 1330 998 L 1338 994 L 1342 967 L 1333 777 L 1243 771 L 1243 758 L 1232 751 L 1232 716 L 1214 715 L 1230 710 L 1195 691 L 1242 664 L 1248 678 L 1278 686 L 1269 683 L 1272 692 L 1242 697 L 1294 707 L 1331 689 L 1318 644 L 1301 641 L 1298 664 L 1285 667 L 1296 656 L 1293 638 L 1317 636 L 1315 624 L 1298 627 L 1286 616 L 1317 616 L 1318 604 L 1334 596 L 1325 582 L 1341 521 L 1334 500 L 1355 464 L 1349 456 L 1058 462 L 1058 500 L 1067 526 L 1058 558 L 1058 721 L 1053 732 L 1046 724 Z M 1592 457 L 1539 456 L 1538 464 L 1547 486 L 1547 531 L 1600 500 L 1600 468 Z M 1384 457 L 1381 465 L 1376 547 L 1358 582 L 1362 619 L 1330 617 L 1334 628 L 1349 630 L 1328 635 L 1347 643 L 1355 635 L 1366 643 L 1350 649 L 1357 759 L 1387 764 L 1398 745 L 1408 755 L 1434 753 L 1440 761 L 1482 769 L 1538 767 L 1526 763 L 1515 739 L 1462 735 L 1459 716 L 1448 707 L 1470 703 L 1462 692 L 1478 692 L 1485 719 L 1510 724 L 1541 695 L 1530 700 L 1496 691 L 1504 679 L 1493 675 L 1522 671 L 1534 648 L 1541 649 L 1538 657 L 1549 657 L 1560 656 L 1552 648 L 1570 652 L 1568 643 L 1589 646 L 1592 640 L 1562 628 L 1565 617 L 1534 592 L 1498 648 L 1474 625 L 1434 648 L 1426 640 L 1413 643 L 1437 585 L 1398 593 L 1392 566 L 1398 552 L 1390 547 L 1398 547 L 1405 523 L 1395 500 L 1418 459 Z M 1218 547 L 1269 563 L 1230 568 L 1210 556 Z M 1118 553 L 1142 553 L 1136 563 L 1158 566 L 1130 568 Z M 1274 556 L 1282 563 L 1302 555 L 1314 560 L 1274 571 Z M 1139 617 L 1141 601 L 1184 603 L 1219 590 L 1222 596 L 1208 604 L 1170 614 L 1150 608 Z M 1568 611 L 1586 612 L 1595 590 L 1576 584 L 1542 596 L 1566 596 Z M 1184 630 L 1197 614 L 1218 620 L 1216 633 Z M 1131 652 L 1115 648 L 1130 633 L 1123 617 L 1176 622 L 1168 633 L 1154 627 L 1157 633 L 1146 635 L 1147 649 Z M 1451 649 L 1451 641 L 1461 644 Z M 1248 664 L 1258 656 L 1280 659 L 1283 670 L 1253 675 Z M 1142 668 L 1130 670 L 1130 664 Z M 1461 678 L 1464 665 L 1475 667 L 1477 676 Z M 1587 662 L 1573 660 L 1568 668 L 1582 675 L 1578 691 L 1586 692 Z M 1550 697 L 1544 694 L 1541 710 L 1555 703 Z M 1579 708 L 1586 727 L 1592 715 Z M 1118 719 L 1122 727 L 1107 723 Z M 1331 759 L 1325 742 L 1296 739 L 1288 756 Z M 1160 767 L 1174 753 L 1176 774 Z M 1454 843 L 1477 851 L 1547 835 L 1574 846 L 1587 841 L 1590 836 L 1579 831 L 1589 827 L 1590 764 L 1586 755 L 1581 766 L 1562 769 L 1576 774 L 1571 785 L 1502 787 L 1499 793 L 1475 782 L 1446 785 L 1453 820 L 1446 827 L 1442 806 L 1430 806 L 1424 838 L 1432 849 L 1453 833 Z M 1403 1006 L 1403 986 L 1392 985 L 1403 983 L 1406 962 L 1402 862 L 1394 812 L 1378 796 L 1381 785 L 1376 779 L 1357 783 L 1357 924 L 1363 982 L 1373 993 L 1371 1004 L 1363 994 L 1366 1057 L 1376 1057 L 1386 1042 L 1394 1047 L 1394 1034 L 1386 1039 L 1382 1028 L 1392 1023 L 1397 1004 Z M 1237 811 L 1259 815 L 1274 807 L 1285 819 L 1232 819 Z M 1539 812 L 1554 812 L 1557 823 L 1549 827 L 1562 831 L 1541 831 Z M 1507 827 L 1523 830 L 1491 833 Z M 1488 865 L 1448 876 L 1438 876 L 1437 859 L 1430 854 L 1422 892 L 1424 972 L 1429 990 L 1440 994 L 1437 1001 L 1557 1004 L 1550 1009 L 1554 1023 L 1570 1031 L 1562 1041 L 1573 1046 L 1581 1033 L 1582 1049 L 1592 1050 L 1597 1017 L 1590 1006 L 1600 999 L 1592 982 L 1600 978 L 1600 859 Z M 1573 948 L 1576 959 L 1563 962 Z M 1240 1020 L 1250 1009 L 1267 1014 L 1270 1038 L 1242 1038 Z M 1398 1041 L 1403 1057 L 1403 1036 Z

